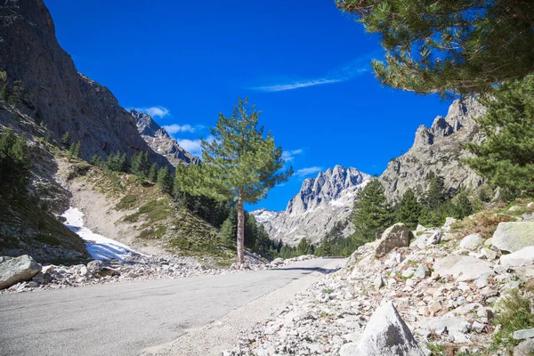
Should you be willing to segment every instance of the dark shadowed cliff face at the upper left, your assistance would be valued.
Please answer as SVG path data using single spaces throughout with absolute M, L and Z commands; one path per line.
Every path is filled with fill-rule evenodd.
M 19 107 L 56 140 L 69 132 L 82 143 L 82 157 L 128 155 L 150 150 L 135 119 L 108 88 L 77 72 L 58 44 L 53 20 L 42 0 L 0 0 L 0 71 L 7 85 L 20 81 Z M 151 152 L 160 164 L 166 159 Z

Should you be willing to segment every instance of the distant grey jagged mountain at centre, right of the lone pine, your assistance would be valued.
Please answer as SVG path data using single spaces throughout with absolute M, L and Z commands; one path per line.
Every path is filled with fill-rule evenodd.
M 305 179 L 285 211 L 276 213 L 260 209 L 252 214 L 263 224 L 271 239 L 282 239 L 292 246 L 303 238 L 318 243 L 335 223 L 349 218 L 356 191 L 369 179 L 368 174 L 356 168 L 328 168 L 316 178 Z

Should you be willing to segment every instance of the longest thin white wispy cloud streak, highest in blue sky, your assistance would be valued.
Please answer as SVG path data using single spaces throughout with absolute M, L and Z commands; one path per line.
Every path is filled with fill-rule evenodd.
M 329 70 L 328 73 L 322 77 L 311 77 L 270 85 L 259 85 L 251 87 L 250 89 L 259 92 L 283 92 L 286 90 L 305 88 L 307 86 L 345 82 L 368 72 L 371 69 L 369 61 L 374 56 L 376 56 L 376 53 L 369 53 L 352 61 L 347 61 L 335 69 Z

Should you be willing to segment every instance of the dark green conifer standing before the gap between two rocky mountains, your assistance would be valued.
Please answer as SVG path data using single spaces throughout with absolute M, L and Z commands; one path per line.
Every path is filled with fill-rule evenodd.
M 352 210 L 352 235 L 357 246 L 379 239 L 392 223 L 392 207 L 384 195 L 384 187 L 374 177 L 365 188 L 358 190 Z

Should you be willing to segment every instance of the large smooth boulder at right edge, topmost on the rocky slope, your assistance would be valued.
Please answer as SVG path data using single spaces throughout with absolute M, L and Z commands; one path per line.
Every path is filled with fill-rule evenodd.
M 492 241 L 494 247 L 508 252 L 534 246 L 534 222 L 499 223 Z

